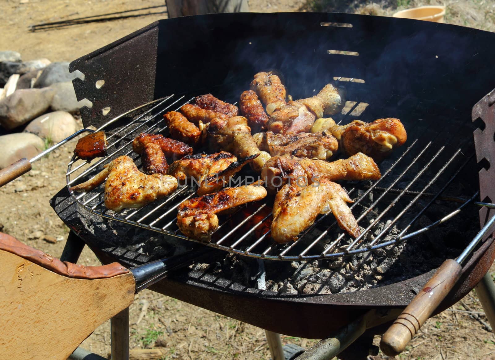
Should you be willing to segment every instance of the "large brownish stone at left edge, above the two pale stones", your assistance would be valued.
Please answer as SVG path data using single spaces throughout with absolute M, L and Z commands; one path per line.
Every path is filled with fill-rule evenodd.
M 0 101 L 0 124 L 13 129 L 43 114 L 50 106 L 53 89 L 21 89 Z

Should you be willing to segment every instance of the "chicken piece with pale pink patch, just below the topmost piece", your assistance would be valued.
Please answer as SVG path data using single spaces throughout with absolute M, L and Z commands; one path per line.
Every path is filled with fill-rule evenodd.
M 282 134 L 308 132 L 316 117 L 306 105 L 299 101 L 289 101 L 275 110 L 268 119 L 267 128 Z

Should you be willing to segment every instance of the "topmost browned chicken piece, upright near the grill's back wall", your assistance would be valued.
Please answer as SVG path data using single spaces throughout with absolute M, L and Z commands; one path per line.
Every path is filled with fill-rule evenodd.
M 271 72 L 260 72 L 254 75 L 250 89 L 255 91 L 263 104 L 265 104 L 268 115 L 273 113 L 275 109 L 286 104 L 285 86 L 280 81 L 280 78 Z

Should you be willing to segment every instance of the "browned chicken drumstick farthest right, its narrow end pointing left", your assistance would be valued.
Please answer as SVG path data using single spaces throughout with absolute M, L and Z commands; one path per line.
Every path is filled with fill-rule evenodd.
M 316 131 L 332 133 L 347 155 L 363 153 L 377 161 L 407 140 L 404 125 L 395 118 L 378 119 L 371 123 L 354 120 L 347 125 L 337 125 L 330 118 L 318 119 L 311 128 L 311 132 Z

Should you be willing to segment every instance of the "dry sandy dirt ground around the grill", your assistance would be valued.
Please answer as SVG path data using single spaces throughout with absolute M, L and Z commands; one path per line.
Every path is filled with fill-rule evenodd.
M 347 11 L 391 15 L 397 9 L 440 1 L 396 0 L 381 3 L 341 0 L 249 1 L 251 11 Z M 446 22 L 494 31 L 495 1 L 446 1 Z M 24 60 L 71 61 L 149 23 L 166 17 L 162 0 L 3 0 L 0 1 L 0 50 L 15 50 Z M 28 26 L 90 15 L 157 6 L 122 20 L 30 32 Z M 123 13 L 127 14 L 127 13 Z M 115 15 L 109 15 L 115 16 Z M 33 164 L 33 170 L 0 189 L 0 231 L 52 255 L 61 254 L 68 228 L 49 206 L 65 186 L 65 170 L 75 143 Z M 49 242 L 51 241 L 51 242 Z M 54 243 L 52 243 L 54 242 Z M 98 265 L 85 249 L 79 263 Z M 492 267 L 492 271 L 495 268 Z M 147 310 L 146 310 L 147 309 Z M 238 320 L 145 290 L 130 307 L 131 349 L 160 347 L 163 359 L 269 359 L 264 331 Z M 397 359 L 495 359 L 495 337 L 473 291 L 430 319 Z M 315 340 L 283 337 L 284 343 L 309 347 Z M 379 337 L 375 339 L 379 342 Z M 109 321 L 83 343 L 106 356 Z M 382 354 L 370 359 L 386 359 Z

